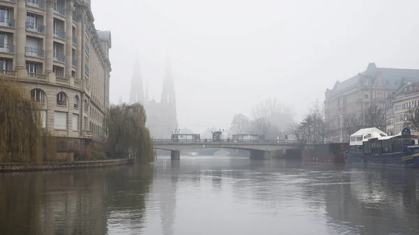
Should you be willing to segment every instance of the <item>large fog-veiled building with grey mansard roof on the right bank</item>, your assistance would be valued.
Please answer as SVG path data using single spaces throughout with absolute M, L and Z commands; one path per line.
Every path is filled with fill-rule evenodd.
M 351 133 L 344 131 L 344 119 L 360 114 L 370 105 L 385 108 L 386 98 L 407 81 L 418 81 L 419 70 L 377 68 L 369 63 L 367 70 L 344 82 L 336 82 L 325 92 L 325 119 L 330 142 L 348 142 Z M 387 109 L 386 109 L 387 110 Z M 390 120 L 390 117 L 389 117 Z

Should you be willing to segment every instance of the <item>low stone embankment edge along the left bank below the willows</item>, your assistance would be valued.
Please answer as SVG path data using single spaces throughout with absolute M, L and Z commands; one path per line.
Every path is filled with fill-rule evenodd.
M 76 169 L 90 167 L 108 167 L 116 165 L 128 165 L 134 162 L 134 158 L 112 159 L 112 160 L 92 160 L 75 162 L 44 162 L 39 165 L 24 163 L 0 164 L 0 172 L 20 172 L 20 171 L 39 171 L 50 169 Z

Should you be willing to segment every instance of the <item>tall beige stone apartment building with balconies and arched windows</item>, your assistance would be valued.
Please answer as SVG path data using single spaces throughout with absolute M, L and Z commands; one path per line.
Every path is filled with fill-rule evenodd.
M 105 135 L 112 41 L 93 22 L 88 0 L 0 0 L 0 75 L 41 103 L 52 135 Z

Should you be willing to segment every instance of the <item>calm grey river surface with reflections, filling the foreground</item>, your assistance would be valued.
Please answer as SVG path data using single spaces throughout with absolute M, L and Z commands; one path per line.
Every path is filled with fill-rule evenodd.
M 0 234 L 419 234 L 419 171 L 230 157 L 0 174 Z

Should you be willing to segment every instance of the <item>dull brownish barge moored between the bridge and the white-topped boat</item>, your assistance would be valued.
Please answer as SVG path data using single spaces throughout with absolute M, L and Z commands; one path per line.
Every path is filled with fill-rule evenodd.
M 344 151 L 348 143 L 308 144 L 302 149 L 304 162 L 345 162 Z

